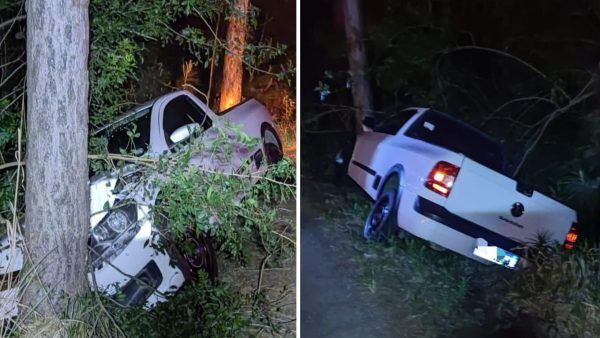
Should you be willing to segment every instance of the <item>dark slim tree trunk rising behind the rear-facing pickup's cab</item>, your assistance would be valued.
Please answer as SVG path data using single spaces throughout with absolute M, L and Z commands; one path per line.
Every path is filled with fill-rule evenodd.
M 373 94 L 367 78 L 367 53 L 363 41 L 360 0 L 342 0 L 346 42 L 348 46 L 348 63 L 352 77 L 352 98 L 356 109 L 357 130 L 362 130 L 365 118 L 373 118 Z

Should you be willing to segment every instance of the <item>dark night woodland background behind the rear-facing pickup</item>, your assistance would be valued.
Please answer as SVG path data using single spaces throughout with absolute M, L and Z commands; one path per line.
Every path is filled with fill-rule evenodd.
M 362 14 L 379 118 L 409 106 L 433 107 L 490 134 L 516 161 L 555 105 L 567 105 L 567 95 L 598 79 L 597 1 L 370 0 L 362 1 Z M 352 105 L 343 20 L 338 1 L 301 3 L 303 179 L 333 180 L 335 153 L 353 144 L 351 112 L 340 108 Z M 476 48 L 456 50 L 465 46 Z M 323 88 L 329 95 L 320 100 Z M 548 102 L 499 109 L 532 96 Z M 576 209 L 580 228 L 594 240 L 599 103 L 596 95 L 553 120 L 517 175 Z

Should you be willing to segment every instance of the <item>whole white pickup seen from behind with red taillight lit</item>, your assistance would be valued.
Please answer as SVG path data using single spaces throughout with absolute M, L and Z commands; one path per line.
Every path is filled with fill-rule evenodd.
M 348 174 L 375 200 L 364 237 L 398 227 L 480 262 L 519 266 L 539 235 L 577 240 L 577 214 L 503 174 L 502 147 L 428 108 L 410 108 L 358 135 Z

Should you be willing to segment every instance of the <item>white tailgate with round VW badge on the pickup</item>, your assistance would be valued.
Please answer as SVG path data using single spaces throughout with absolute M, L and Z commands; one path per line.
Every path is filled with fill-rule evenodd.
M 466 157 L 445 207 L 520 243 L 534 241 L 544 233 L 548 239 L 563 243 L 577 220 L 574 210 L 537 191 L 527 196 L 517 191 L 515 180 Z

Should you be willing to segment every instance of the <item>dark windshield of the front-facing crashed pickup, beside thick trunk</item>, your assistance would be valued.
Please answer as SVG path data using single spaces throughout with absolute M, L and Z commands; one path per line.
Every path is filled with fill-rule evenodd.
M 114 125 L 102 130 L 98 136 L 107 140 L 109 153 L 120 154 L 122 151 L 142 155 L 150 145 L 150 117 L 152 107 L 140 110 Z

